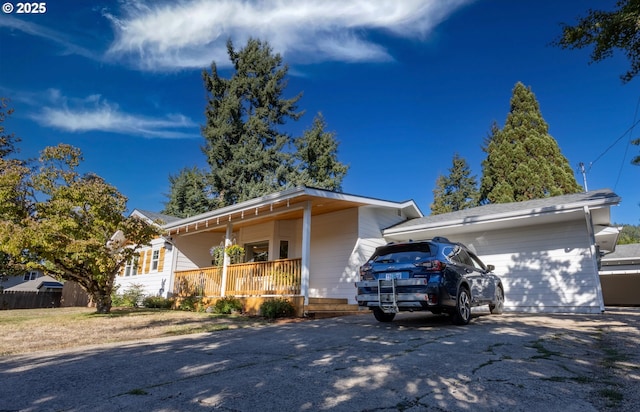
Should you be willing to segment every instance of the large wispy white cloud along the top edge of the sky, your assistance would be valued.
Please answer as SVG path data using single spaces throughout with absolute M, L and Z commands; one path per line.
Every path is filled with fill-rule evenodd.
M 144 70 L 228 64 L 226 41 L 269 41 L 288 61 L 388 61 L 393 57 L 367 37 L 381 30 L 425 38 L 455 10 L 473 0 L 187 0 L 126 3 L 113 24 L 111 56 Z

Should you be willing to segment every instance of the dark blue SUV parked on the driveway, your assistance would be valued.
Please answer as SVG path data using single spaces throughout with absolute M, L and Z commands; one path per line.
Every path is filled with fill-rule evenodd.
M 356 298 L 380 322 L 391 322 L 398 312 L 431 311 L 466 325 L 472 306 L 502 313 L 504 288 L 493 270 L 463 244 L 443 237 L 389 243 L 360 267 Z

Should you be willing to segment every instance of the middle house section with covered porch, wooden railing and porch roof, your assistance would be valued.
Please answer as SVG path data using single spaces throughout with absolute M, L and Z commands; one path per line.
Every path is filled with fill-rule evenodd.
M 385 243 L 382 230 L 419 217 L 413 201 L 309 187 L 262 196 L 164 225 L 177 251 L 170 286 L 177 295 L 355 303 L 358 268 Z M 245 262 L 213 267 L 211 248 L 231 244 L 244 248 Z

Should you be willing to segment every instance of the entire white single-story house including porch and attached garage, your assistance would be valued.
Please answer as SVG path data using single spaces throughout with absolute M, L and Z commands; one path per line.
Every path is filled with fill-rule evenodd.
M 355 304 L 358 269 L 377 246 L 444 236 L 496 266 L 506 310 L 599 313 L 599 260 L 615 249 L 610 207 L 619 202 L 605 189 L 424 216 L 412 200 L 302 186 L 165 220 L 164 237 L 117 283 L 143 284 L 154 295 L 242 297 L 252 308 L 274 296 L 304 310 L 318 299 Z M 212 252 L 231 245 L 244 259 L 216 265 Z

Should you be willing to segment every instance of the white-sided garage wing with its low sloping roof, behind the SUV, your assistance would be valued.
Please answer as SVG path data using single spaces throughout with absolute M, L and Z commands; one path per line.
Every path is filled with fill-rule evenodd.
M 604 311 L 601 253 L 615 250 L 612 191 L 490 204 L 411 219 L 383 231 L 390 241 L 448 237 L 493 264 L 505 286 L 505 310 Z

